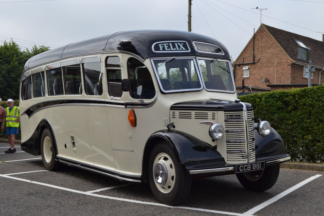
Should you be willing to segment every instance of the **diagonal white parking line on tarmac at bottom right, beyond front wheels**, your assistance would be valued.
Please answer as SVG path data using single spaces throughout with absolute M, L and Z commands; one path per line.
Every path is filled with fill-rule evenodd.
M 259 206 L 256 206 L 256 207 L 254 207 L 253 209 L 250 209 L 249 211 L 247 211 L 247 212 L 244 213 L 244 214 L 252 215 L 252 214 L 254 214 L 254 213 L 260 211 L 261 209 L 265 208 L 266 206 L 269 206 L 270 204 L 272 204 L 272 203 L 276 202 L 277 200 L 283 198 L 284 196 L 286 196 L 286 195 L 292 193 L 292 192 L 295 191 L 296 189 L 299 189 L 300 187 L 302 187 L 302 186 L 306 185 L 307 183 L 313 181 L 314 179 L 319 178 L 320 176 L 322 176 L 322 175 L 316 175 L 316 176 L 313 176 L 313 177 L 311 177 L 311 178 L 308 178 L 308 179 L 306 179 L 305 181 L 303 181 L 303 182 L 301 182 L 301 183 L 295 185 L 294 187 L 291 187 L 290 189 L 288 189 L 288 190 L 282 192 L 281 194 L 278 194 L 277 196 L 271 198 L 270 200 L 268 200 L 268 201 L 266 201 L 266 202 L 264 202 L 264 203 L 261 203 Z

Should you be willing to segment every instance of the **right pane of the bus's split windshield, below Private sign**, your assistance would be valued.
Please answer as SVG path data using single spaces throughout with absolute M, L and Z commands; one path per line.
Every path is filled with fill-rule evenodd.
M 234 91 L 229 61 L 198 59 L 198 62 L 207 90 Z

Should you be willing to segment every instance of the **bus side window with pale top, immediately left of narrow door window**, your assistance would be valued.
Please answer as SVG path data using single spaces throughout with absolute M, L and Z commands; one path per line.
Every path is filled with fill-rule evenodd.
M 102 95 L 102 71 L 99 57 L 84 58 L 81 63 L 85 93 L 87 95 Z

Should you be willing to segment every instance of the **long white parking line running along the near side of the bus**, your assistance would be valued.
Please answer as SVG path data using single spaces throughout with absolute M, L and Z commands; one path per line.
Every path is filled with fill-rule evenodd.
M 34 182 L 34 181 L 26 180 L 26 179 L 20 179 L 20 178 L 15 178 L 15 177 L 12 177 L 12 176 L 1 175 L 1 174 L 0 174 L 0 177 L 14 179 L 14 180 L 23 181 L 23 182 L 32 183 L 32 184 L 37 184 L 37 185 L 42 185 L 42 186 L 47 186 L 47 187 L 51 187 L 51 188 L 55 188 L 55 189 L 60 189 L 60 190 L 64 190 L 64 191 L 78 193 L 78 194 L 110 199 L 110 200 L 118 200 L 118 201 L 124 201 L 124 202 L 129 202 L 129 203 L 137 203 L 137 204 L 144 204 L 144 205 L 151 205 L 151 206 L 162 206 L 162 207 L 166 207 L 166 208 L 186 209 L 186 210 L 193 210 L 193 211 L 199 211 L 199 212 L 209 212 L 209 213 L 216 213 L 216 214 L 223 214 L 223 215 L 246 216 L 246 214 L 237 214 L 237 213 L 222 212 L 222 211 L 215 211 L 215 210 L 208 210 L 208 209 L 190 208 L 190 207 L 167 206 L 167 205 L 164 205 L 164 204 L 161 204 L 161 203 L 150 203 L 150 202 L 143 202 L 143 201 L 137 201 L 137 200 L 129 200 L 129 199 L 124 199 L 124 198 L 103 196 L 103 195 L 99 195 L 99 194 L 92 194 L 92 193 L 89 193 L 89 192 L 77 191 L 77 190 L 73 190 L 73 189 L 69 189 L 69 188 L 63 188 L 63 187 L 59 187 L 59 186 L 55 186 L 55 185 L 49 185 L 49 184 L 45 184 L 45 183 L 41 183 L 41 182 Z

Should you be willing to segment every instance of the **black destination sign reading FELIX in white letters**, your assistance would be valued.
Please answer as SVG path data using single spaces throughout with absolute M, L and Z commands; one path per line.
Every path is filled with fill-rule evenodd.
M 160 41 L 152 46 L 153 52 L 190 52 L 186 41 Z

